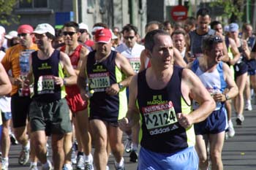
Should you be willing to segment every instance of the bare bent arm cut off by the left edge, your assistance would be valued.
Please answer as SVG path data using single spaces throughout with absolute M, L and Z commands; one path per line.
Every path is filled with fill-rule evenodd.
M 7 95 L 12 90 L 12 84 L 8 78 L 4 66 L 0 63 L 0 96 Z

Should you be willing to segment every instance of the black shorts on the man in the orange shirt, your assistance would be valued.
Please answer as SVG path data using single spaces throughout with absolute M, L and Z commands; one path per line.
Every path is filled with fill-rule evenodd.
M 31 98 L 29 96 L 18 96 L 18 93 L 15 93 L 11 97 L 13 128 L 20 128 L 26 126 L 26 120 L 29 115 L 30 103 Z

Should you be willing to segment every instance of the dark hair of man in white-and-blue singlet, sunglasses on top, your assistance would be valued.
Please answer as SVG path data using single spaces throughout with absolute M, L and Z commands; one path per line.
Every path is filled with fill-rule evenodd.
M 202 46 L 201 46 L 202 51 L 211 50 L 213 45 L 222 43 L 222 42 L 223 42 L 222 38 L 218 35 L 204 36 L 202 39 Z

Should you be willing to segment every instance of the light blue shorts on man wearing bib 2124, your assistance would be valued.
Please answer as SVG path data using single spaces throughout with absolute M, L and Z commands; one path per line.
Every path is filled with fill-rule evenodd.
M 157 153 L 140 147 L 138 170 L 197 170 L 198 156 L 195 147 L 188 147 L 175 154 Z

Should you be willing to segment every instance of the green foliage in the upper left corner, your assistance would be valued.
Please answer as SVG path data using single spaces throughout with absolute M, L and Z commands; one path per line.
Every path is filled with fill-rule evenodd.
M 18 0 L 0 0 L 0 24 L 10 26 L 12 23 L 18 23 L 20 16 L 13 14 Z

